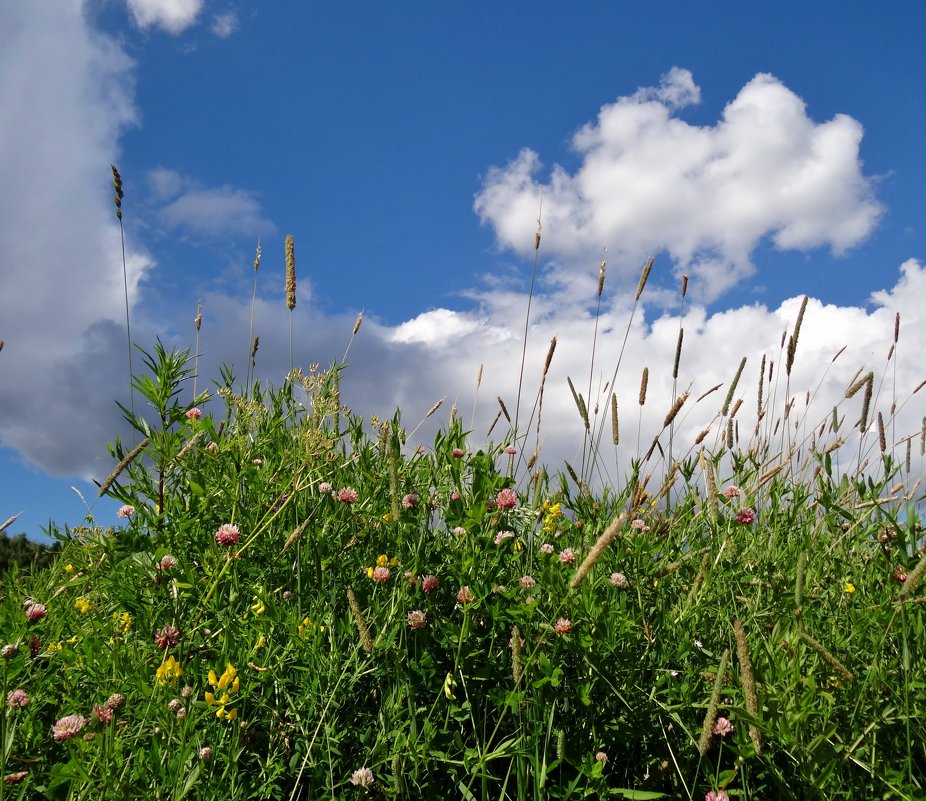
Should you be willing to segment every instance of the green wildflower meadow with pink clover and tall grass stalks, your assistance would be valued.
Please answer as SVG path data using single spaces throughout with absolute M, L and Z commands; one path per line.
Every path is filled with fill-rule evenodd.
M 350 411 L 346 363 L 202 389 L 198 342 L 136 349 L 119 518 L 0 584 L 0 801 L 926 798 L 922 435 L 886 441 L 874 373 L 823 419 L 783 402 L 799 329 L 758 388 L 621 374 L 620 423 L 570 383 L 561 466 L 512 399 L 419 447 Z

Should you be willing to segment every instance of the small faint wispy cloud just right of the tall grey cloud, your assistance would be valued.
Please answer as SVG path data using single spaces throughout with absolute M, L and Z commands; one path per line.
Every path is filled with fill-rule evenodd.
M 232 232 L 256 237 L 276 230 L 254 192 L 228 185 L 205 187 L 165 168 L 151 171 L 148 184 L 159 205 L 156 216 L 168 228 L 206 237 Z

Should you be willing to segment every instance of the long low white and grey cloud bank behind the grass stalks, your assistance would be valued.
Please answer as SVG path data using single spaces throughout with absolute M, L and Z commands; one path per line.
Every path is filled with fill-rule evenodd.
M 840 430 L 838 434 L 825 432 L 824 438 L 829 437 L 829 442 L 836 436 L 847 439 L 842 467 L 851 469 L 857 465 L 860 453 L 861 460 L 877 463 L 876 428 L 871 425 L 864 435 L 857 429 L 861 395 L 845 398 L 858 371 L 871 370 L 876 377 L 876 392 L 870 420 L 881 412 L 886 421 L 888 448 L 901 461 L 906 439 L 915 438 L 912 470 L 920 475 L 924 469 L 919 456 L 922 396 L 915 396 L 911 402 L 911 393 L 926 378 L 919 358 L 926 348 L 926 319 L 918 300 L 924 293 L 926 267 L 911 259 L 901 265 L 893 285 L 875 293 L 867 306 L 837 306 L 810 298 L 790 377 L 785 374 L 786 342 L 794 329 L 801 296 L 788 298 L 773 308 L 753 304 L 713 313 L 703 304 L 696 304 L 681 315 L 651 313 L 644 304 L 631 320 L 622 293 L 606 291 L 592 367 L 593 315 L 580 302 L 564 303 L 559 295 L 540 295 L 534 298 L 518 413 L 527 298 L 516 293 L 500 294 L 492 288 L 474 290 L 478 307 L 472 311 L 436 309 L 395 326 L 369 316 L 351 346 L 341 397 L 363 416 L 389 416 L 396 407 L 401 408 L 409 431 L 423 420 L 434 402 L 446 398 L 441 409 L 409 441 L 408 447 L 414 448 L 419 444 L 427 446 L 435 427 L 448 423 L 454 404 L 464 426 L 473 432 L 473 445 L 480 446 L 499 411 L 496 395 L 500 395 L 512 417 L 518 413 L 523 434 L 519 448 L 525 458 L 539 445 L 542 461 L 551 469 L 562 468 L 563 461 L 568 460 L 578 470 L 583 458 L 583 425 L 568 388 L 567 379 L 572 379 L 590 410 L 592 426 L 600 432 L 600 458 L 595 470 L 587 468 L 586 473 L 598 485 L 621 485 L 630 460 L 646 454 L 654 437 L 660 434 L 671 406 L 672 366 L 681 326 L 684 339 L 676 392 L 688 390 L 690 397 L 677 418 L 673 458 L 693 456 L 697 452 L 695 439 L 705 428 L 709 429 L 706 447 L 715 448 L 723 441 L 726 421 L 720 418 L 719 410 L 740 360 L 745 357 L 746 367 L 733 395 L 733 405 L 742 400 L 735 417 L 739 447 L 746 449 L 759 439 L 769 441 L 773 452 L 787 450 L 789 443 L 796 445 L 797 467 L 808 455 L 814 432 L 829 423 L 837 408 L 842 419 Z M 518 314 L 512 314 L 515 305 L 519 306 Z M 288 320 L 280 314 L 281 308 L 279 298 L 260 301 L 255 314 L 255 333 L 261 342 L 258 370 L 275 382 L 289 366 Z M 328 364 L 339 359 L 350 337 L 354 314 L 325 316 L 311 307 L 297 307 L 296 311 L 297 363 Z M 898 314 L 900 337 L 891 352 Z M 206 372 L 215 374 L 222 363 L 244 369 L 248 315 L 247 299 L 218 293 L 204 299 L 201 347 L 207 352 Z M 300 337 L 300 331 L 311 335 Z M 557 345 L 546 378 L 538 431 L 537 392 L 554 336 Z M 641 408 L 638 389 L 644 367 L 649 369 L 650 378 L 647 401 Z M 764 375 L 761 420 L 757 408 L 760 370 Z M 477 391 L 480 373 L 481 387 Z M 720 390 L 696 402 L 717 384 Z M 620 420 L 620 444 L 616 449 L 611 443 L 612 391 L 617 396 Z M 784 424 L 784 410 L 790 402 L 793 405 L 788 423 Z M 492 439 L 500 441 L 507 431 L 503 420 Z M 662 451 L 656 448 L 647 464 L 659 477 L 668 459 L 666 433 L 660 437 L 660 447 Z

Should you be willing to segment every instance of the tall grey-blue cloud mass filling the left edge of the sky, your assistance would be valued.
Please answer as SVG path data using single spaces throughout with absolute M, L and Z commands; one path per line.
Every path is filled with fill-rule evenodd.
M 136 119 L 132 62 L 80 3 L 0 4 L 0 107 L 0 444 L 73 475 L 125 397 L 108 380 L 127 358 L 110 162 Z M 152 263 L 126 255 L 134 305 Z

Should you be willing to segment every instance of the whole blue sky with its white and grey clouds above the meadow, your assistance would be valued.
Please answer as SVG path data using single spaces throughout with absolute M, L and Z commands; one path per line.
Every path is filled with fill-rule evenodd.
M 884 371 L 900 313 L 882 400 L 902 406 L 897 440 L 918 431 L 922 396 L 903 401 L 926 372 L 924 33 L 913 2 L 4 4 L 0 521 L 79 522 L 70 488 L 91 501 L 111 467 L 126 384 L 111 161 L 135 339 L 192 345 L 202 299 L 213 375 L 244 369 L 258 238 L 259 366 L 285 372 L 292 233 L 299 361 L 336 358 L 363 310 L 357 411 L 468 409 L 485 364 L 491 419 L 516 392 L 542 187 L 527 374 L 556 335 L 554 464 L 581 441 L 565 377 L 588 374 L 604 247 L 605 378 L 657 257 L 619 394 L 644 363 L 671 369 L 687 272 L 684 386 L 728 381 L 741 355 L 758 370 L 808 294 L 792 389 L 816 387 L 825 416 L 858 367 Z M 93 514 L 114 522 L 112 504 Z

